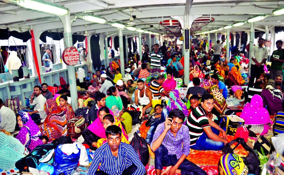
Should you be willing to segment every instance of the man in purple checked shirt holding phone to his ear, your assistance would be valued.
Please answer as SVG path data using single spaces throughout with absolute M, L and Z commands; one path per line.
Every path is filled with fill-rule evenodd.
M 181 173 L 182 175 L 206 175 L 197 165 L 187 160 L 190 153 L 189 130 L 182 125 L 185 115 L 180 109 L 170 111 L 166 121 L 159 124 L 150 145 L 155 153 L 156 174 Z M 166 170 L 162 171 L 163 166 Z

